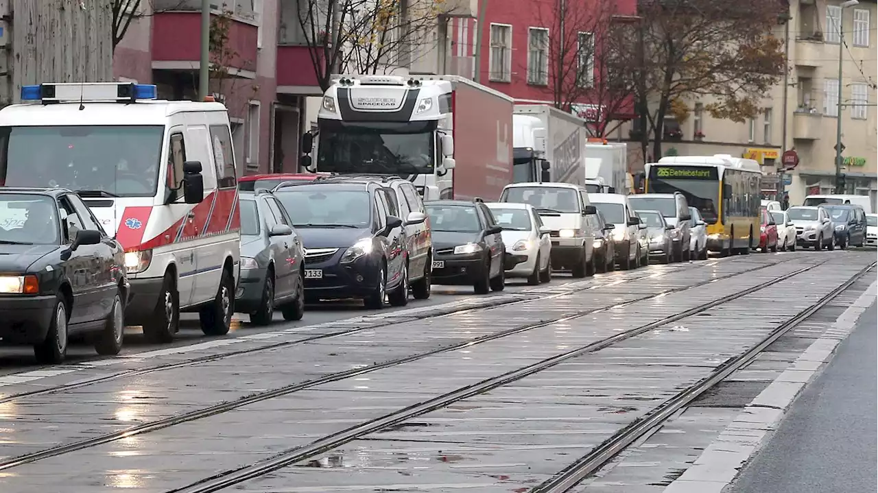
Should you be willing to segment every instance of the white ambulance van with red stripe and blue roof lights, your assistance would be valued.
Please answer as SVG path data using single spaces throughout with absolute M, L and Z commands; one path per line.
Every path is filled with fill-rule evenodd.
M 234 313 L 241 217 L 226 107 L 154 101 L 153 85 L 46 83 L 0 110 L 0 178 L 75 190 L 125 249 L 126 324 L 169 342 L 180 311 L 205 334 Z

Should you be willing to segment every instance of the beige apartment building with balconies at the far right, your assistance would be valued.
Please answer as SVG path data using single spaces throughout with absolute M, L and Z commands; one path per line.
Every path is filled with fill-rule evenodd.
M 801 204 L 806 195 L 834 193 L 841 118 L 846 193 L 871 196 L 878 210 L 878 37 L 873 36 L 878 4 L 860 0 L 842 8 L 838 0 L 791 0 L 789 14 L 788 26 L 775 32 L 784 38 L 789 30 L 786 104 L 782 82 L 766 95 L 759 115 L 743 124 L 711 118 L 705 111 L 709 98 L 690 101 L 687 121 L 672 124 L 681 135 L 666 132 L 663 152 L 750 157 L 763 165 L 767 188 L 782 179 L 790 204 Z M 842 35 L 835 28 L 839 19 Z M 799 165 L 780 178 L 776 168 L 788 149 L 796 151 Z

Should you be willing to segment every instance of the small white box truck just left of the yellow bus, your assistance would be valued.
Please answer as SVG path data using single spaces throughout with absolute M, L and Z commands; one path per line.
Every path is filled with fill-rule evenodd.
M 624 142 L 588 139 L 586 189 L 591 193 L 630 193 L 628 146 Z

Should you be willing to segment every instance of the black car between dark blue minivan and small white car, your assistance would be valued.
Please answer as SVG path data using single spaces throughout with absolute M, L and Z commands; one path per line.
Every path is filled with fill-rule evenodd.
M 424 204 L 433 229 L 433 279 L 471 284 L 479 295 L 506 282 L 503 228 L 482 202 L 436 200 Z

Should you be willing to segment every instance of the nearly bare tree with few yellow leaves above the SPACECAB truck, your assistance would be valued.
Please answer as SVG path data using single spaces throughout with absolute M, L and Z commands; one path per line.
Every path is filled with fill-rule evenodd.
M 384 73 L 422 53 L 444 0 L 299 0 L 299 28 L 326 90 L 333 74 Z

